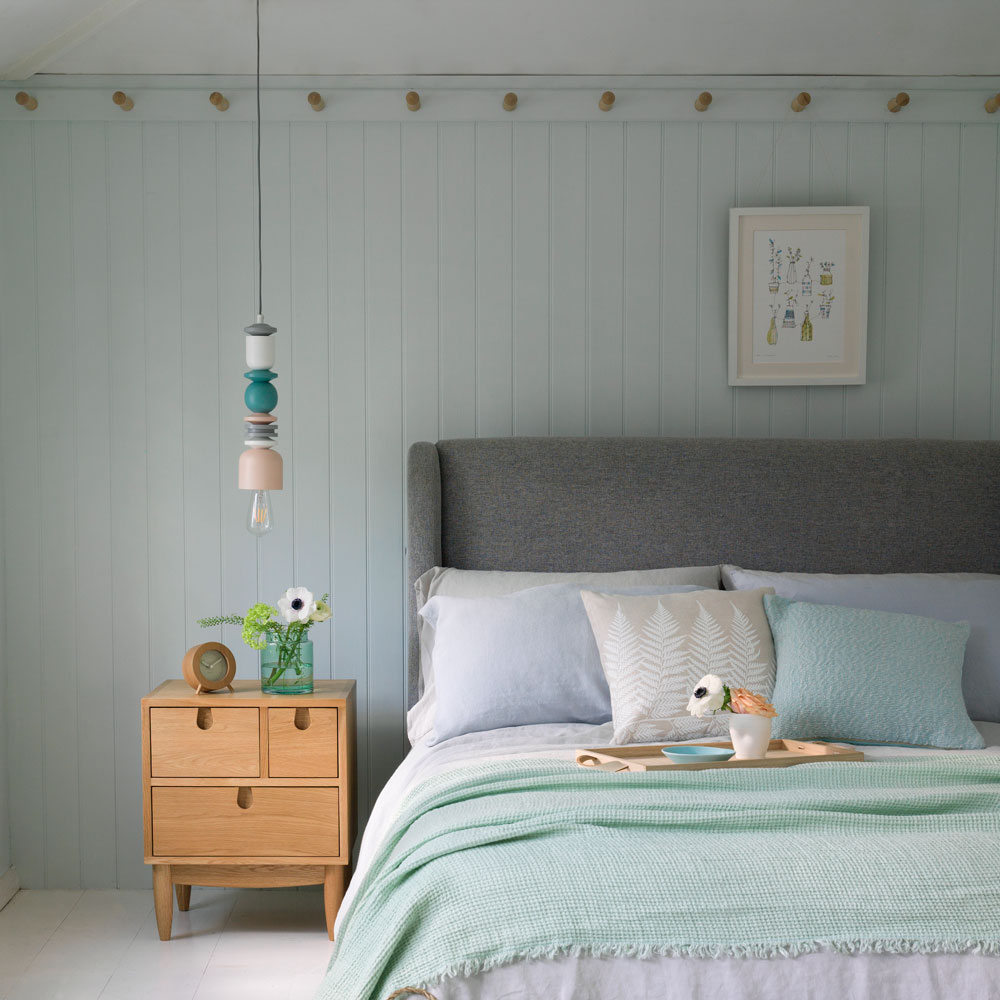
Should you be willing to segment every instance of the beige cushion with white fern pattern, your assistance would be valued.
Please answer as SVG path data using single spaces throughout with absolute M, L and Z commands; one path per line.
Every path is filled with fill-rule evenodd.
M 774 644 L 764 613 L 770 587 L 732 593 L 625 597 L 583 591 L 611 690 L 614 743 L 724 736 L 727 713 L 695 718 L 695 683 L 718 674 L 770 700 Z

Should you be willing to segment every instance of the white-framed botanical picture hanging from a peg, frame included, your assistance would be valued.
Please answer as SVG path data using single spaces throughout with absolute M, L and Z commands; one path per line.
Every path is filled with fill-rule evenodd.
M 867 333 L 867 207 L 730 209 L 730 385 L 862 385 Z

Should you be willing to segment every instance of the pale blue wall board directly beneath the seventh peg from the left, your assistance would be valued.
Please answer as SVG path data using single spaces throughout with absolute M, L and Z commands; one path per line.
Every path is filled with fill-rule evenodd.
M 587 433 L 621 434 L 624 126 L 587 127 Z

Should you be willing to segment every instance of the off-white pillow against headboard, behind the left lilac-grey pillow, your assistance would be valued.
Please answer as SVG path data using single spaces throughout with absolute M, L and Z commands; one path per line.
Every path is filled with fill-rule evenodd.
M 596 590 L 627 590 L 634 587 L 669 587 L 692 584 L 718 590 L 718 566 L 687 566 L 668 569 L 623 570 L 618 573 L 532 573 L 502 570 L 452 569 L 435 566 L 413 584 L 417 596 L 417 636 L 420 642 L 420 697 L 407 712 L 406 731 L 411 745 L 434 730 L 437 693 L 434 685 L 434 628 L 419 612 L 432 597 L 499 597 L 520 590 L 554 583 L 579 583 Z

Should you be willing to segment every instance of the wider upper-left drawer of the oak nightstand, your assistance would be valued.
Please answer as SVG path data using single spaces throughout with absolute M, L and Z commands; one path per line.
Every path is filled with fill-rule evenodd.
M 256 708 L 151 708 L 154 778 L 260 777 Z

